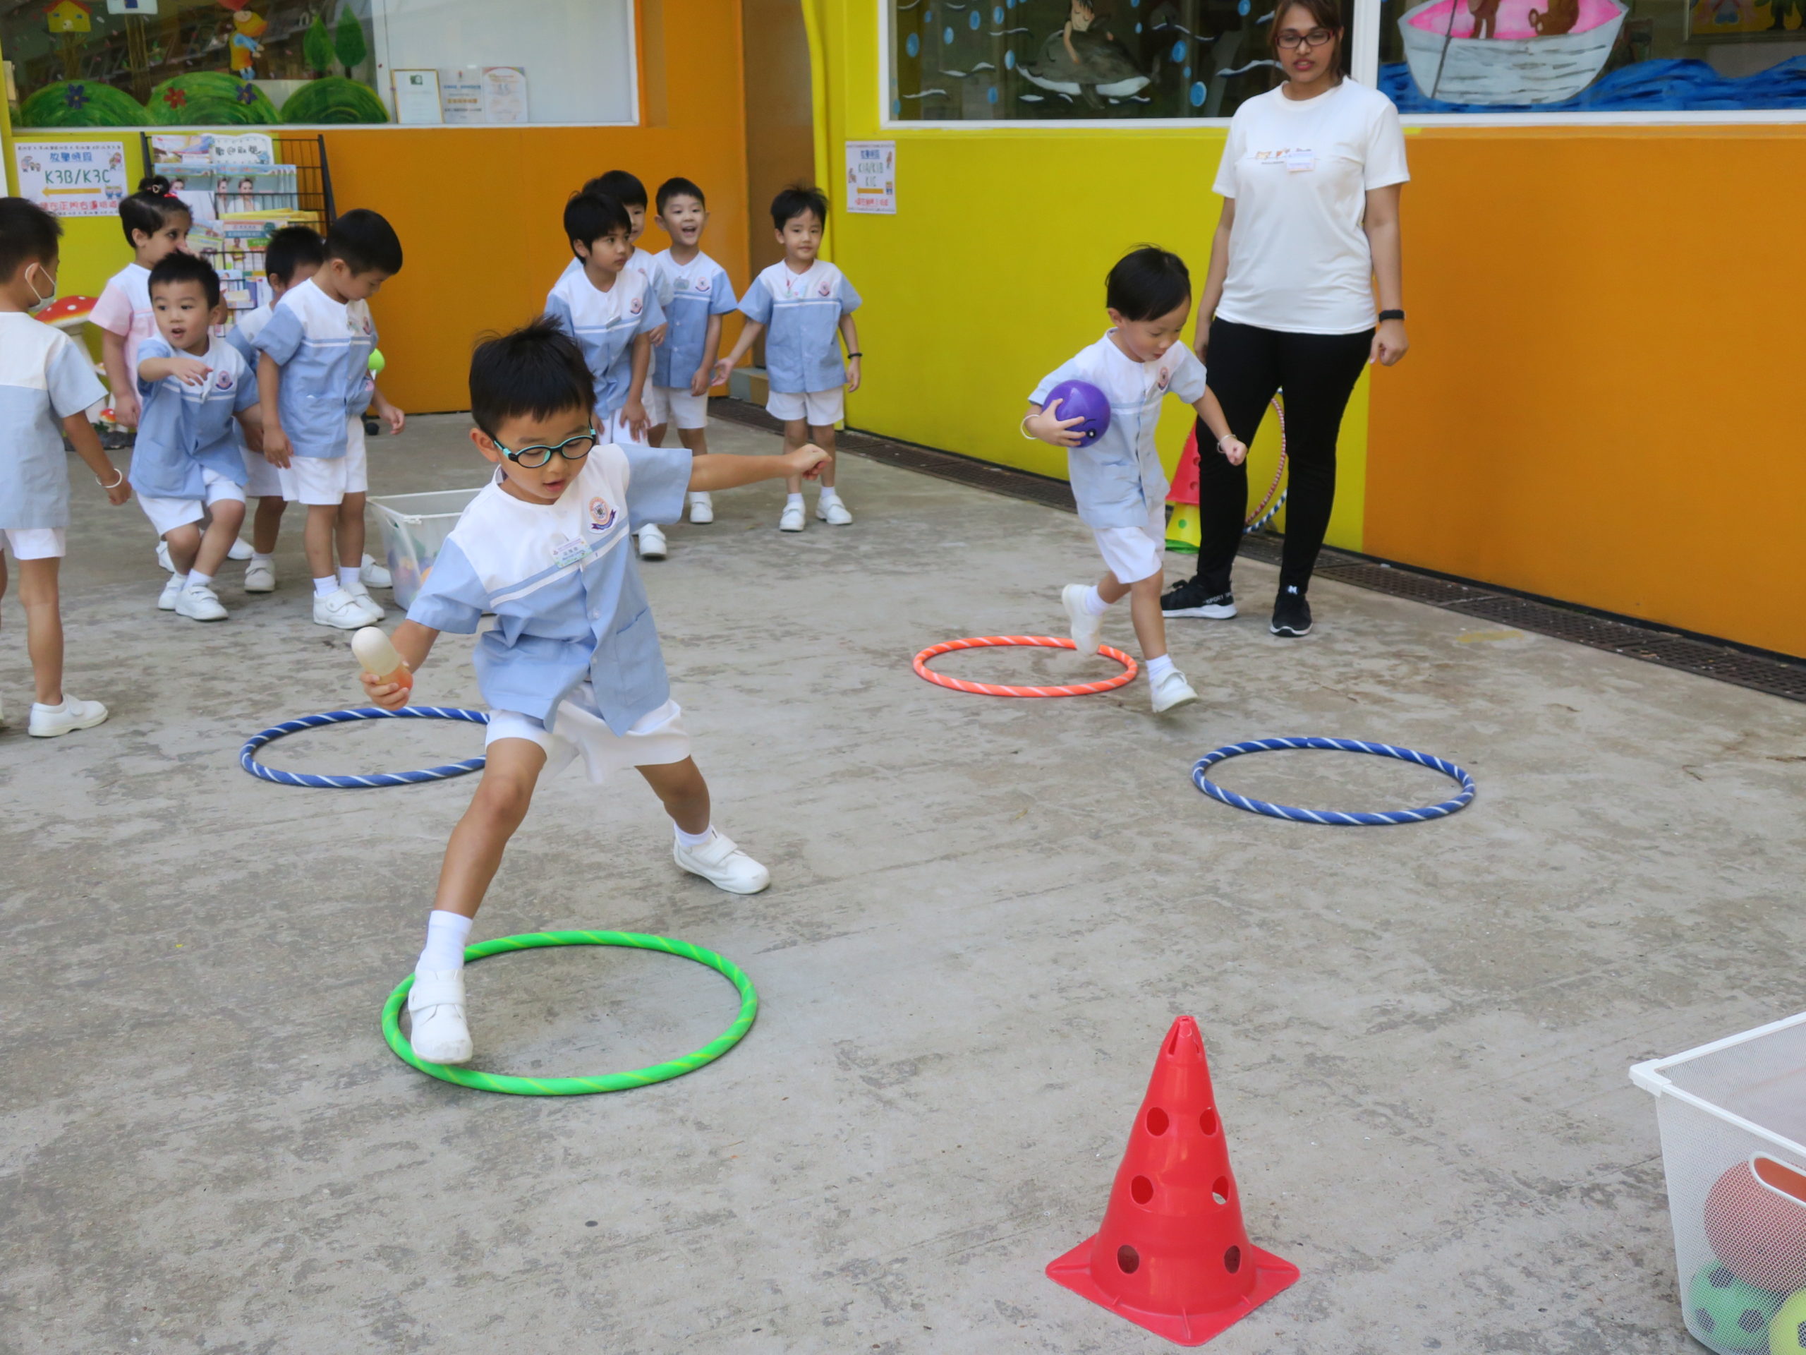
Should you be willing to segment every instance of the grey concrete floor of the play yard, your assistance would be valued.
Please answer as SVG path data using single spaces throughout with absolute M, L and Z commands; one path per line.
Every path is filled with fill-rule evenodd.
M 377 491 L 473 484 L 455 417 L 374 443 Z M 769 450 L 717 425 L 717 446 Z M 1302 1281 L 1219 1337 L 1270 1351 L 1696 1350 L 1654 1107 L 1625 1070 L 1806 1005 L 1806 706 L 1320 584 L 1318 634 L 1174 627 L 1205 701 L 1004 701 L 923 683 L 936 640 L 1060 629 L 1091 578 L 1064 513 L 847 459 L 851 529 L 780 537 L 719 495 L 645 575 L 717 822 L 777 883 L 679 874 L 638 782 L 547 782 L 477 936 L 688 938 L 759 985 L 717 1064 L 609 1097 L 464 1091 L 377 1032 L 473 780 L 255 782 L 240 741 L 356 705 L 345 638 L 284 587 L 154 611 L 135 508 L 79 475 L 70 688 L 112 721 L 23 732 L 0 640 L 0 1350 L 1158 1351 L 1055 1286 L 1089 1236 L 1163 1032 L 1197 1017 L 1253 1239 Z M 1174 562 L 1174 573 L 1183 562 Z M 1127 618 L 1105 638 L 1129 641 Z M 423 699 L 475 703 L 448 640 Z M 979 654 L 964 674 L 1102 661 Z M 1336 734 L 1452 757 L 1450 820 L 1237 813 L 1205 750 Z M 397 770 L 466 726 L 358 726 L 269 761 Z M 1277 753 L 1295 804 L 1447 782 Z M 628 1068 L 701 1044 L 731 988 L 670 958 L 473 970 L 482 1066 Z

